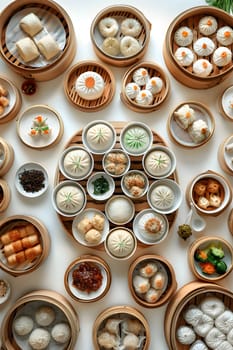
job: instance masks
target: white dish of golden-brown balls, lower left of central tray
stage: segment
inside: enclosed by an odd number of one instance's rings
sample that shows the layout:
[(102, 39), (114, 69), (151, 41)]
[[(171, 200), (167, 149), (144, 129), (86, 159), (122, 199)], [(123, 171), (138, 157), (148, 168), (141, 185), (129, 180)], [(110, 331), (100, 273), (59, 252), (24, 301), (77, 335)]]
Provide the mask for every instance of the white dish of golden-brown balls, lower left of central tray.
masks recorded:
[(103, 243), (109, 232), (109, 221), (98, 209), (87, 208), (78, 214), (72, 222), (72, 233), (75, 240), (89, 247)]

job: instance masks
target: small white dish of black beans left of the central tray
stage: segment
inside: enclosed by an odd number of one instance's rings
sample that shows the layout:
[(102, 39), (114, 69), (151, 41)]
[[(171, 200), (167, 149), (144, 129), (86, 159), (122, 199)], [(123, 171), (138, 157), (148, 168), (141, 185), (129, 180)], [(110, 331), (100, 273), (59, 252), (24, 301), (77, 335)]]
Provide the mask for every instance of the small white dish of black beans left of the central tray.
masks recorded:
[[(39, 190), (30, 190), (31, 186), (33, 186), (33, 182), (35, 179), (37, 172), (39, 176), (43, 176), (44, 180), (40, 181), (41, 188)], [(38, 173), (39, 172), (39, 173)], [(24, 185), (22, 183), (22, 177), (25, 178)], [(49, 185), (48, 173), (46, 169), (39, 163), (29, 162), (20, 166), (15, 175), (15, 187), (17, 191), (24, 197), (28, 198), (36, 198), (44, 194)]]

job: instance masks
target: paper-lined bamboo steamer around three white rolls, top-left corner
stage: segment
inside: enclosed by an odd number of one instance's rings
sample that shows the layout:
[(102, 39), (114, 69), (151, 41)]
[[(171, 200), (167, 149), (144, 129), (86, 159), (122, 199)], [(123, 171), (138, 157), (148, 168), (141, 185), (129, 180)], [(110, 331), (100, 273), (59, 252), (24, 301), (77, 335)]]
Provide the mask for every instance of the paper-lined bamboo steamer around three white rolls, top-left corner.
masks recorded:
[[(24, 62), (15, 48), (15, 41), (25, 37), (19, 28), (20, 20), (29, 13), (35, 13), (41, 20), (43, 34), (51, 34), (60, 49), (52, 59), (40, 56), (31, 62)], [(72, 62), (76, 53), (76, 40), (73, 24), (57, 3), (50, 0), (13, 1), (1, 13), (0, 54), (3, 60), (24, 78), (46, 81), (62, 74)], [(40, 33), (33, 39), (39, 39)]]

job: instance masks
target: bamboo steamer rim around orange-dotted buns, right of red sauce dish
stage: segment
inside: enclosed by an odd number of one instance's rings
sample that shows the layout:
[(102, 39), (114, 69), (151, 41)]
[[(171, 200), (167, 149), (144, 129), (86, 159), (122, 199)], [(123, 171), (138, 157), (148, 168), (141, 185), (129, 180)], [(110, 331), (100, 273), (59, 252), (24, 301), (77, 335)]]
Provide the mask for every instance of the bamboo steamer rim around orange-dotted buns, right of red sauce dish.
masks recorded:
[[(137, 265), (139, 263), (145, 262), (147, 260), (154, 260), (155, 262), (158, 261), (159, 263), (161, 263), (165, 267), (166, 272), (167, 272), (167, 276), (168, 276), (168, 286), (167, 286), (166, 290), (161, 295), (161, 297), (158, 299), (158, 301), (156, 301), (153, 304), (148, 303), (147, 301), (140, 298), (135, 293), (135, 289), (133, 287), (133, 273), (134, 273), (135, 268), (137, 267)], [(131, 291), (131, 294), (132, 294), (134, 300), (139, 305), (147, 307), (147, 308), (157, 308), (157, 307), (160, 307), (160, 306), (166, 304), (168, 302), (168, 300), (170, 299), (170, 297), (175, 293), (176, 288), (177, 288), (176, 275), (175, 275), (175, 271), (174, 271), (172, 265), (170, 264), (170, 262), (167, 259), (165, 259), (164, 257), (162, 257), (160, 255), (156, 255), (156, 254), (143, 255), (143, 256), (138, 257), (136, 260), (134, 260), (132, 262), (132, 264), (130, 265), (129, 271), (128, 271), (128, 283), (129, 283), (129, 289)]]

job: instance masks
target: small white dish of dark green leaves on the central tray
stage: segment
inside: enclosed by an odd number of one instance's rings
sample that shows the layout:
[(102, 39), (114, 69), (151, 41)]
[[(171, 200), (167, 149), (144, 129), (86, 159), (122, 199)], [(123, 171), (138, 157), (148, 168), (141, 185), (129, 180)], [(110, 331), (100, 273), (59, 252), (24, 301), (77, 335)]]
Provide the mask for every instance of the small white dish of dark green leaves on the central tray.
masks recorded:
[[(104, 189), (105, 186), (108, 187), (107, 190)], [(115, 191), (115, 181), (104, 171), (99, 171), (89, 177), (86, 187), (91, 198), (96, 201), (106, 201)]]

